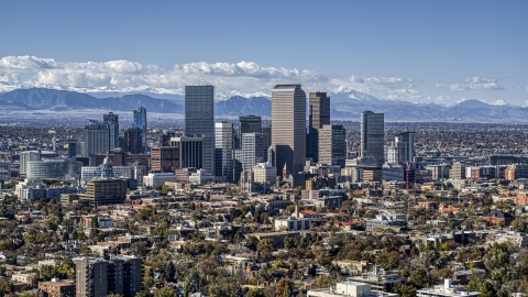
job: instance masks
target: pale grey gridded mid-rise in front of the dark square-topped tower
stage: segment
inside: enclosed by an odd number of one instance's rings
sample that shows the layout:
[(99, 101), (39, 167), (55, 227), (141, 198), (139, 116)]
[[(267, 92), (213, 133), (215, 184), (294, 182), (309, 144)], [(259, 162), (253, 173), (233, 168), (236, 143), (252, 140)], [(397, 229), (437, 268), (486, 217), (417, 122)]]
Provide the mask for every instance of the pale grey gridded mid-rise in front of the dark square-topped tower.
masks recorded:
[(267, 162), (268, 150), (267, 134), (243, 133), (242, 134), (242, 169), (251, 170), (258, 163)]

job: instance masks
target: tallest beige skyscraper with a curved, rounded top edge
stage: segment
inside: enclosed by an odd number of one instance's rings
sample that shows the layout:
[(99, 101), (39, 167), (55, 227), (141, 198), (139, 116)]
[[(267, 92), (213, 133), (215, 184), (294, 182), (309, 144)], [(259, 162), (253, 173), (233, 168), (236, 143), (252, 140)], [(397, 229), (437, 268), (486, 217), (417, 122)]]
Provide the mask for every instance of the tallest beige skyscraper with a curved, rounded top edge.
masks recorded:
[(306, 92), (300, 84), (273, 88), (272, 156), (278, 176), (286, 165), (294, 175), (294, 186), (304, 186), (304, 178), (296, 178), (306, 161)]

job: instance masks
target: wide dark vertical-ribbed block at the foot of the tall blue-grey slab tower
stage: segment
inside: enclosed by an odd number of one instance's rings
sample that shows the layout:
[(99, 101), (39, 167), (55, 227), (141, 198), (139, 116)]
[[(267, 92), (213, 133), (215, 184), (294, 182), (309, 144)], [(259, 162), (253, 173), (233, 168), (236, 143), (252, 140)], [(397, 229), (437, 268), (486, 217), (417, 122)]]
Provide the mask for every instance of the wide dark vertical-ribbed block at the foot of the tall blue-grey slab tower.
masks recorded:
[(204, 138), (172, 138), (170, 146), (179, 150), (179, 168), (204, 167)]

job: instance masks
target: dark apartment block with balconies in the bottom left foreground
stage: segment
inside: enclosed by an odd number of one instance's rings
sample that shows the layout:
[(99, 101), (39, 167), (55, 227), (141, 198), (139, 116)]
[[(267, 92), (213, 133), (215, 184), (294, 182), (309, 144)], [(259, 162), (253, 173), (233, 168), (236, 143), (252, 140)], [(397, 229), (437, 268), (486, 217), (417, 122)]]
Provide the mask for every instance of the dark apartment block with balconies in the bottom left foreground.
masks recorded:
[(109, 260), (76, 258), (76, 297), (99, 297), (110, 293), (135, 296), (141, 290), (141, 262), (139, 257), (124, 255)]

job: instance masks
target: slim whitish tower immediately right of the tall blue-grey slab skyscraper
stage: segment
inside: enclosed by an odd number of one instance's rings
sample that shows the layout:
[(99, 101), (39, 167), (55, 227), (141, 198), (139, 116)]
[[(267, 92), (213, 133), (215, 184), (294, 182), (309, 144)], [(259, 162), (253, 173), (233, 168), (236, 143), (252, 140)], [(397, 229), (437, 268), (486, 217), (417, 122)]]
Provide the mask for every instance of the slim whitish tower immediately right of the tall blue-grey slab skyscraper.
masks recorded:
[(233, 123), (215, 123), (215, 175), (229, 183), (233, 182)]

